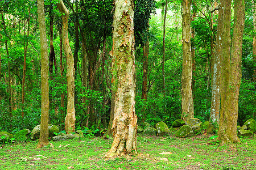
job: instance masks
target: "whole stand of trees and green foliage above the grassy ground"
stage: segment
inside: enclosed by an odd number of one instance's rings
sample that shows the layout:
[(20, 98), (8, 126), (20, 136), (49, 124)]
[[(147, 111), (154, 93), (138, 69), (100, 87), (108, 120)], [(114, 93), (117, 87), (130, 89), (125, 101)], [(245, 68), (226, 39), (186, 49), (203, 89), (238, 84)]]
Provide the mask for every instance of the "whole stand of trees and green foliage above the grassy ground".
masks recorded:
[(198, 120), (195, 135), (220, 146), (255, 135), (254, 1), (1, 0), (0, 12), (0, 135), (41, 125), (41, 148), (48, 125), (80, 130), (113, 139), (104, 158), (137, 153), (160, 122), (170, 138)]

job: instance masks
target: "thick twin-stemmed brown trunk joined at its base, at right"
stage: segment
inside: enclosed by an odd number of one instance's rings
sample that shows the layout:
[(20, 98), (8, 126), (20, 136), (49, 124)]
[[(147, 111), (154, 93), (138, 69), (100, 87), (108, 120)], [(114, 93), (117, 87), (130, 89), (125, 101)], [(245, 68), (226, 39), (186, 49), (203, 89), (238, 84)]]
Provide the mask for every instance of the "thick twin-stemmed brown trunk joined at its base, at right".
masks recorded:
[(234, 13), (234, 32), (232, 38), (232, 60), (230, 62), (230, 16), (231, 0), (224, 6), (224, 37), (222, 41), (222, 82), (221, 114), (218, 140), (220, 145), (240, 142), (237, 137), (238, 97), (241, 84), (242, 37), (245, 22), (245, 1), (236, 0)]

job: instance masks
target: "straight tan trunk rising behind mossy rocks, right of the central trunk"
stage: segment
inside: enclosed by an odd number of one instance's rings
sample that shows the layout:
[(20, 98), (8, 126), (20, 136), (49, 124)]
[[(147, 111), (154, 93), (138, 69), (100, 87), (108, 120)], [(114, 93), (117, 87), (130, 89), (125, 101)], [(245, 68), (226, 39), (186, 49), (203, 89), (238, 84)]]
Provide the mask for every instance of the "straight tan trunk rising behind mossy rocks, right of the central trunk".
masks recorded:
[(183, 41), (183, 67), (181, 78), (181, 118), (189, 120), (194, 117), (194, 104), (192, 95), (192, 57), (191, 57), (191, 0), (182, 2), (182, 41)]

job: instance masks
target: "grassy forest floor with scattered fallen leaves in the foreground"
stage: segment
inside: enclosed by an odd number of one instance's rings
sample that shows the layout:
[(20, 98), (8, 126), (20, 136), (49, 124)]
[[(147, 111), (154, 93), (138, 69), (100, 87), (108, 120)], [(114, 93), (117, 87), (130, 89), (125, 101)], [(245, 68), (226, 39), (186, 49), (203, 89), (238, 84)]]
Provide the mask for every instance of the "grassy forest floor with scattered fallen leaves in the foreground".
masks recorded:
[[(104, 159), (112, 140), (98, 137), (0, 145), (0, 169), (256, 169), (256, 137), (234, 147), (222, 146), (210, 135), (191, 138), (138, 135), (138, 155)], [(218, 151), (216, 149), (218, 148)]]

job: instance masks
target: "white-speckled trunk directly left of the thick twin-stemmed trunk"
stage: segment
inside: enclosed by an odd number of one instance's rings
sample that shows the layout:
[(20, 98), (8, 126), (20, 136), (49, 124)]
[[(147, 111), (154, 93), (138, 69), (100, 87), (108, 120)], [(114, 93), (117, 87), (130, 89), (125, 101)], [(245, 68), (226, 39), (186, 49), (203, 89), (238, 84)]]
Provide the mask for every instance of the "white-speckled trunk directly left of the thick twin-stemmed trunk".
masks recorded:
[[(220, 1), (218, 10), (218, 25), (216, 35), (216, 47), (213, 58), (212, 73), (212, 102), (210, 106), (210, 124), (218, 126), (220, 122), (220, 82), (221, 82), (221, 58), (222, 58), (222, 32), (223, 32), (223, 10), (224, 0)], [(217, 128), (217, 127), (216, 127)], [(212, 133), (209, 131), (209, 133)]]

